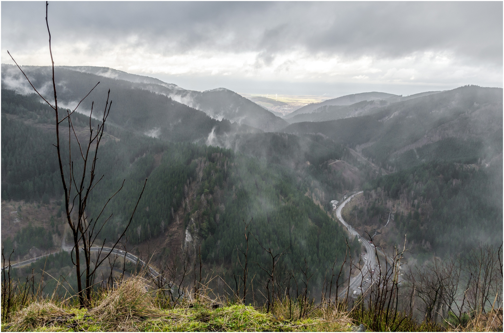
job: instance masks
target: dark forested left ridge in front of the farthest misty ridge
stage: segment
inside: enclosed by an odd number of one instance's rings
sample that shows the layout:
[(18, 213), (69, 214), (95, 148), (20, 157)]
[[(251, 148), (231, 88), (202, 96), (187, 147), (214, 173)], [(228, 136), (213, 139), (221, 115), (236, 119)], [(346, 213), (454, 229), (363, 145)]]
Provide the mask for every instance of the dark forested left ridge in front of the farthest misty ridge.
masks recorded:
[[(20, 77), (21, 73), (17, 68), (2, 66), (3, 87), (15, 88), (18, 92), (30, 92), (26, 79)], [(27, 66), (25, 70), (33, 85), (50, 100), (49, 68)], [(81, 103), (79, 110), (89, 114), (94, 101), (93, 115), (101, 116), (107, 99), (107, 89), (110, 88), (112, 108), (109, 121), (152, 137), (171, 141), (206, 140), (214, 127), (217, 133), (229, 132), (233, 128), (228, 120), (213, 119), (205, 112), (174, 101), (170, 97), (141, 89), (145, 84), (63, 68), (56, 68), (55, 76), (59, 106), (73, 109), (86, 92), (100, 81), (100, 85)]]

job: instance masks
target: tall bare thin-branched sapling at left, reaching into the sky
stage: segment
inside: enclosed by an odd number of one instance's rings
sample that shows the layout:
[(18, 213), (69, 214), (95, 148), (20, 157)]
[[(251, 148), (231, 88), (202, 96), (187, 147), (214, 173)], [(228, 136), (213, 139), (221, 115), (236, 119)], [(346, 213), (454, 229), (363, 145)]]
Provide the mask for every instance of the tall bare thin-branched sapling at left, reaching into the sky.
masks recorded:
[[(76, 108), (73, 111), (66, 110), (66, 115), (61, 114), (62, 112), (65, 112), (65, 110), (60, 110), (58, 108), (58, 103), (57, 103), (57, 93), (56, 93), (56, 80), (54, 76), (54, 59), (52, 56), (52, 49), (51, 49), (51, 32), (49, 30), (49, 22), (48, 22), (48, 2), (45, 4), (45, 22), (47, 26), (47, 33), (49, 35), (49, 53), (51, 56), (51, 66), (52, 66), (52, 88), (53, 88), (53, 93), (54, 93), (54, 105), (51, 104), (49, 101), (47, 101), (46, 98), (44, 98), (38, 91), (37, 89), (33, 86), (33, 84), (30, 82), (26, 74), (23, 72), (21, 67), (18, 65), (16, 60), (14, 60), (14, 57), (12, 57), (11, 53), (8, 51), (9, 55), (13, 59), (13, 61), (16, 63), (18, 66), (19, 70), (23, 73), (25, 78), (28, 80), (28, 83), (30, 83), (31, 87), (33, 90), (54, 110), (55, 114), (55, 125), (56, 125), (56, 152), (57, 152), (57, 157), (58, 157), (58, 164), (59, 164), (59, 171), (61, 175), (61, 184), (63, 186), (64, 192), (65, 192), (65, 214), (67, 217), (67, 222), (70, 226), (70, 229), (72, 230), (73, 237), (74, 237), (74, 249), (75, 250), (75, 261), (74, 258), (72, 257), (73, 263), (75, 265), (76, 269), (76, 276), (77, 276), (77, 290), (78, 290), (78, 298), (79, 298), (79, 303), (80, 306), (87, 306), (90, 304), (91, 301), (91, 289), (92, 289), (92, 281), (95, 275), (95, 272), (97, 268), (100, 266), (100, 264), (112, 253), (112, 250), (115, 248), (117, 243), (120, 241), (120, 239), (124, 236), (126, 231), (128, 230), (128, 227), (131, 224), (131, 221), (133, 219), (133, 215), (135, 214), (135, 211), (138, 207), (138, 203), (140, 202), (140, 198), (142, 197), (142, 193), (144, 192), (145, 189), (145, 184), (147, 183), (147, 179), (145, 180), (144, 187), (142, 189), (142, 192), (139, 195), (137, 205), (135, 206), (135, 209), (133, 210), (133, 213), (131, 215), (130, 221), (128, 222), (127, 226), (125, 226), (122, 234), (118, 237), (117, 241), (112, 245), (110, 250), (105, 251), (105, 255), (101, 257), (102, 251), (104, 249), (105, 245), (105, 240), (103, 240), (101, 247), (98, 249), (98, 255), (94, 261), (92, 262), (92, 257), (91, 257), (91, 249), (94, 247), (94, 243), (100, 234), (101, 230), (103, 229), (103, 226), (107, 223), (107, 221), (112, 217), (110, 215), (107, 219), (105, 219), (103, 222), (98, 223), (98, 220), (100, 219), (103, 211), (105, 210), (105, 207), (107, 204), (110, 202), (110, 200), (122, 189), (121, 187), (114, 193), (112, 194), (107, 202), (104, 204), (103, 209), (101, 212), (98, 214), (96, 219), (91, 219), (90, 221), (87, 221), (87, 216), (86, 216), (86, 207), (89, 199), (89, 194), (91, 191), (94, 189), (96, 184), (103, 178), (103, 175), (101, 176), (100, 179), (96, 179), (96, 163), (98, 160), (98, 148), (100, 146), (101, 140), (103, 138), (103, 131), (105, 128), (105, 122), (107, 120), (107, 117), (110, 112), (110, 107), (112, 106), (112, 102), (109, 102), (110, 98), (110, 90), (108, 91), (107, 94), (107, 101), (105, 103), (105, 108), (103, 111), (103, 115), (101, 116), (101, 121), (98, 122), (97, 128), (93, 129), (93, 126), (91, 124), (91, 116), (93, 114), (93, 108), (94, 108), (94, 102), (92, 103), (91, 106), (91, 114), (89, 116), (89, 140), (86, 143), (81, 143), (79, 141), (79, 138), (77, 137), (74, 124), (72, 122), (72, 114), (77, 110), (79, 105), (82, 103), (82, 101), (89, 96), (89, 94), (98, 86), (99, 82), (89, 91), (89, 93), (84, 96), (82, 100), (78, 103)], [(68, 160), (68, 173), (65, 175), (65, 170), (63, 167), (63, 161), (61, 157), (61, 141), (60, 141), (60, 124), (63, 121), (68, 122), (68, 130), (69, 130), (69, 146), (68, 146), (68, 154), (69, 154), (69, 160)], [(73, 136), (72, 136), (73, 134)], [(77, 155), (80, 155), (80, 158), (78, 157), (77, 159), (74, 159), (72, 157), (72, 140), (75, 137), (75, 140), (77, 142), (77, 145), (79, 147), (79, 151), (77, 152)], [(74, 167), (74, 163), (76, 166)], [(77, 164), (80, 163), (80, 166), (82, 167), (82, 174), (77, 171)], [(68, 177), (68, 178), (67, 178)], [(124, 184), (124, 181), (122, 182)], [(73, 196), (73, 197), (72, 197)], [(73, 217), (75, 212), (74, 209), (77, 209), (77, 218)], [(82, 248), (83, 253), (84, 253), (84, 258), (85, 258), (85, 271), (81, 273), (81, 258), (80, 258), (80, 249)], [(82, 286), (82, 281), (81, 278), (85, 274), (85, 287), (83, 288)]]

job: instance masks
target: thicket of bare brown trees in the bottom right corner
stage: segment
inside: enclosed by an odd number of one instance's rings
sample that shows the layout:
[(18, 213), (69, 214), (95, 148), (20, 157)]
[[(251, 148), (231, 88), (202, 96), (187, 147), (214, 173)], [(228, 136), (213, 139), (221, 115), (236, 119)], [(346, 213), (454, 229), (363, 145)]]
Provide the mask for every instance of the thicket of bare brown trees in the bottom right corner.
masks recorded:
[[(501, 245), (502, 246), (502, 245)], [(467, 257), (433, 257), (424, 265), (405, 272), (409, 288), (409, 310), (416, 308), (424, 318), (441, 319), (454, 329), (502, 304), (502, 247), (479, 245)]]

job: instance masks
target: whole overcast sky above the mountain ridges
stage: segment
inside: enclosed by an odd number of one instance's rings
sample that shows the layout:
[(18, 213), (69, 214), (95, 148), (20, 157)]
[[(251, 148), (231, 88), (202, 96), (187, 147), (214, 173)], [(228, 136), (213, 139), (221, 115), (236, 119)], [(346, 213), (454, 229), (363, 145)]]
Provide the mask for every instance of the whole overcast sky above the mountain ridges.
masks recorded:
[[(502, 2), (53, 2), (56, 65), (186, 89), (341, 96), (502, 87)], [(2, 2), (2, 62), (49, 65), (45, 3)]]

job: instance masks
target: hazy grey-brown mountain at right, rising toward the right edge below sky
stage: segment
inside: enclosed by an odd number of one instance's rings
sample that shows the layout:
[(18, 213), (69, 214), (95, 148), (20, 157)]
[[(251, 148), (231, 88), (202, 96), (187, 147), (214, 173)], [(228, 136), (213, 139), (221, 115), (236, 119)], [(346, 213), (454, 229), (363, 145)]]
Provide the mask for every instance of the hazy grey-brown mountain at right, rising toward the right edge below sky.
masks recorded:
[[(365, 156), (383, 165), (398, 167), (435, 159), (489, 160), (502, 153), (501, 88), (465, 86), (376, 111), (340, 120), (294, 123), (284, 131), (320, 132), (362, 149)], [(418, 155), (420, 148), (423, 155)]]

